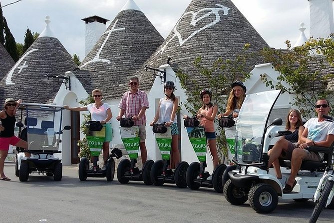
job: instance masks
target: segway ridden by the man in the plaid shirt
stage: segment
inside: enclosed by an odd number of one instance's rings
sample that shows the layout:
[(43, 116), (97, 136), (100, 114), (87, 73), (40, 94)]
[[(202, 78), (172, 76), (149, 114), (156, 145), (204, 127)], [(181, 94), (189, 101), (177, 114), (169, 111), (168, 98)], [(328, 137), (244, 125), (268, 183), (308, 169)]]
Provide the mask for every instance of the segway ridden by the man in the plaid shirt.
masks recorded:
[(117, 167), (117, 178), (120, 183), (128, 183), (132, 181), (144, 181), (146, 185), (152, 185), (150, 171), (154, 163), (149, 159), (143, 163), (143, 168), (140, 170), (137, 166), (138, 148), (139, 148), (139, 126), (133, 126), (134, 121), (131, 118), (121, 119), (119, 127), (121, 138), (124, 147), (130, 159), (122, 159)]

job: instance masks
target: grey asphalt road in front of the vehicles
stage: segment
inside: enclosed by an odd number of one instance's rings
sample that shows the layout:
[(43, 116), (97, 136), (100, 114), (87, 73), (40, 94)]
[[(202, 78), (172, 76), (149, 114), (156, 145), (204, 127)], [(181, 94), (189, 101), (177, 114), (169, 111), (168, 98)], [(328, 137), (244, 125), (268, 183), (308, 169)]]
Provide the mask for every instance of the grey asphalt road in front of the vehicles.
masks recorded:
[[(210, 188), (120, 184), (116, 176), (80, 181), (76, 166), (63, 167), (61, 181), (31, 174), (20, 182), (14, 164), (4, 170), (11, 180), (0, 180), (0, 222), (308, 222), (314, 208), (310, 200), (280, 200), (274, 212), (259, 214)], [(318, 222), (334, 222), (334, 210), (325, 209)]]

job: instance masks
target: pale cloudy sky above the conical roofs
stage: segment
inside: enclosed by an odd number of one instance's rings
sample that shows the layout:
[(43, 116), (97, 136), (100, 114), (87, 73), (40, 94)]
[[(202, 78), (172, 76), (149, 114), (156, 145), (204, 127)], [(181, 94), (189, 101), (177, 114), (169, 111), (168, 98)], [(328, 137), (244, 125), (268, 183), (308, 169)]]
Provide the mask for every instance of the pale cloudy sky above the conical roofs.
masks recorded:
[[(0, 0), (5, 5), (16, 0)], [(24, 42), (28, 27), (41, 33), (45, 16), (55, 36), (80, 60), (85, 53), (85, 22), (81, 18), (98, 15), (112, 21), (127, 0), (21, 0), (2, 8), (16, 42)], [(191, 0), (134, 0), (160, 34), (166, 38)], [(297, 41), (300, 23), (310, 32), (308, 0), (232, 0), (265, 41), (275, 48), (286, 48), (285, 40)], [(109, 21), (109, 23), (110, 23)], [(107, 25), (109, 25), (107, 23)]]

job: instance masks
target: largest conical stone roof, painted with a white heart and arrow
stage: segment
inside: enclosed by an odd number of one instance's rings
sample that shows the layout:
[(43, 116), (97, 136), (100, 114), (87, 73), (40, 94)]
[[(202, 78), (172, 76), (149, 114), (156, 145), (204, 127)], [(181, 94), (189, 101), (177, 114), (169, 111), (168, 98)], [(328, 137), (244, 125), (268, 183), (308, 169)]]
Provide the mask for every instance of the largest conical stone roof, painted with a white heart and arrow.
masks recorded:
[[(204, 77), (194, 67), (195, 59), (201, 56), (202, 64), (211, 67), (218, 57), (235, 59), (245, 43), (250, 43), (249, 51), (268, 46), (231, 0), (192, 0), (146, 63), (157, 68), (170, 56), (175, 71), (182, 69), (205, 87)], [(248, 60), (246, 70), (251, 71), (258, 62), (257, 58)], [(151, 76), (145, 80), (153, 82)]]

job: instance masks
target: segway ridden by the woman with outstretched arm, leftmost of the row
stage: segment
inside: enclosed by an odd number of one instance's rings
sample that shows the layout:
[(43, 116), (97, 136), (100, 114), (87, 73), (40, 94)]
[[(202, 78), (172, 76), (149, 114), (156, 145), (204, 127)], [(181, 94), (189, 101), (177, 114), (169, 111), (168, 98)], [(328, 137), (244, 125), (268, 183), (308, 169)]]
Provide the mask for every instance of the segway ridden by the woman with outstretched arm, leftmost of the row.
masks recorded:
[(90, 155), (96, 158), (93, 161), (93, 166), (89, 167), (89, 159), (82, 157), (79, 164), (79, 179), (84, 181), (87, 177), (106, 177), (107, 181), (112, 181), (115, 175), (115, 161), (113, 157), (117, 159), (122, 156), (122, 151), (118, 148), (114, 148), (108, 155), (105, 162), (105, 169), (101, 169), (98, 164), (98, 156), (101, 153), (102, 145), (105, 139), (105, 126), (100, 121), (88, 121), (86, 122), (88, 132), (86, 135)]

